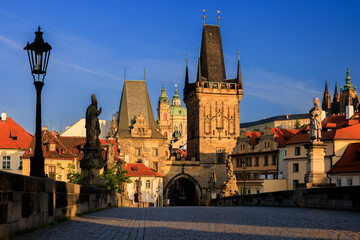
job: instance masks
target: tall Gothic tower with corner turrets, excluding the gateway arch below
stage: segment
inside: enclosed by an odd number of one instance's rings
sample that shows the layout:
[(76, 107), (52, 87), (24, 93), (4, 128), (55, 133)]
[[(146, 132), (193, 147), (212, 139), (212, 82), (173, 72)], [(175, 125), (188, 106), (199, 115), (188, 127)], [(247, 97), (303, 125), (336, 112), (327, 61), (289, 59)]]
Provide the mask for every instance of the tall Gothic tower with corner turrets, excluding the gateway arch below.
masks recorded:
[(237, 77), (226, 79), (220, 27), (204, 24), (195, 83), (189, 83), (187, 68), (184, 102), (188, 110), (188, 158), (204, 165), (224, 163), (240, 136), (240, 58)]

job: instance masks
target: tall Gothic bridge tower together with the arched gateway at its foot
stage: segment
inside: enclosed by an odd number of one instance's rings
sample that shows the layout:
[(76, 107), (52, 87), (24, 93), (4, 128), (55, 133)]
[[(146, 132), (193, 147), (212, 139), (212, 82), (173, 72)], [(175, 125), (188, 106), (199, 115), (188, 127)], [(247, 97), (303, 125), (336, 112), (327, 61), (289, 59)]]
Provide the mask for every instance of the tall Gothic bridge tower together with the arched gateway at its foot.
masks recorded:
[(164, 198), (170, 205), (203, 205), (220, 193), (227, 181), (228, 154), (240, 136), (242, 96), (240, 60), (237, 77), (226, 79), (220, 27), (204, 24), (196, 82), (189, 81), (188, 65), (185, 72), (187, 157), (171, 159), (164, 178)]

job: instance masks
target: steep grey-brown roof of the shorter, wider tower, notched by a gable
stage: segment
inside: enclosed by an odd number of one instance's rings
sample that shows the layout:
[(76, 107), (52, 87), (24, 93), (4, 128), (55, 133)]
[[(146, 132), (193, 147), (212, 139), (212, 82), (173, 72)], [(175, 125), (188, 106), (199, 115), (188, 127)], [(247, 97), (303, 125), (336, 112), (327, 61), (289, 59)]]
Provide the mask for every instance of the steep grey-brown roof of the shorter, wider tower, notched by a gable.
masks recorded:
[(165, 139), (157, 130), (145, 81), (125, 80), (119, 107), (118, 138), (131, 138), (135, 118), (142, 114), (151, 129), (151, 138)]

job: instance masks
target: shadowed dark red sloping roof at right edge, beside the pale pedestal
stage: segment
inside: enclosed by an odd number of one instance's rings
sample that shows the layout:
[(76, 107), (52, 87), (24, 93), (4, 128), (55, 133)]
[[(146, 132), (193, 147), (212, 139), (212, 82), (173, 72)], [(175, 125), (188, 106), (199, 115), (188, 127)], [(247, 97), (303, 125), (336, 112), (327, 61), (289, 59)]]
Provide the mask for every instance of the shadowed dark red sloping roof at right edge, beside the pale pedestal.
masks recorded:
[(328, 171), (328, 173), (355, 172), (360, 172), (360, 143), (350, 143), (340, 160)]

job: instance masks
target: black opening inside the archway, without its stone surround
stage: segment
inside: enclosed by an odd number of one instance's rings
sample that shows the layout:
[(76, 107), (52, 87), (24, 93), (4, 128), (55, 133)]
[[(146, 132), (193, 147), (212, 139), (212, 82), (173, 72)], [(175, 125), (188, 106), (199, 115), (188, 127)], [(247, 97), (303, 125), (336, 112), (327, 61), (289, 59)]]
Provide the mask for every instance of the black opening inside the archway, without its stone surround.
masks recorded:
[(169, 189), (168, 199), (170, 206), (197, 206), (195, 185), (182, 177), (177, 179)]

